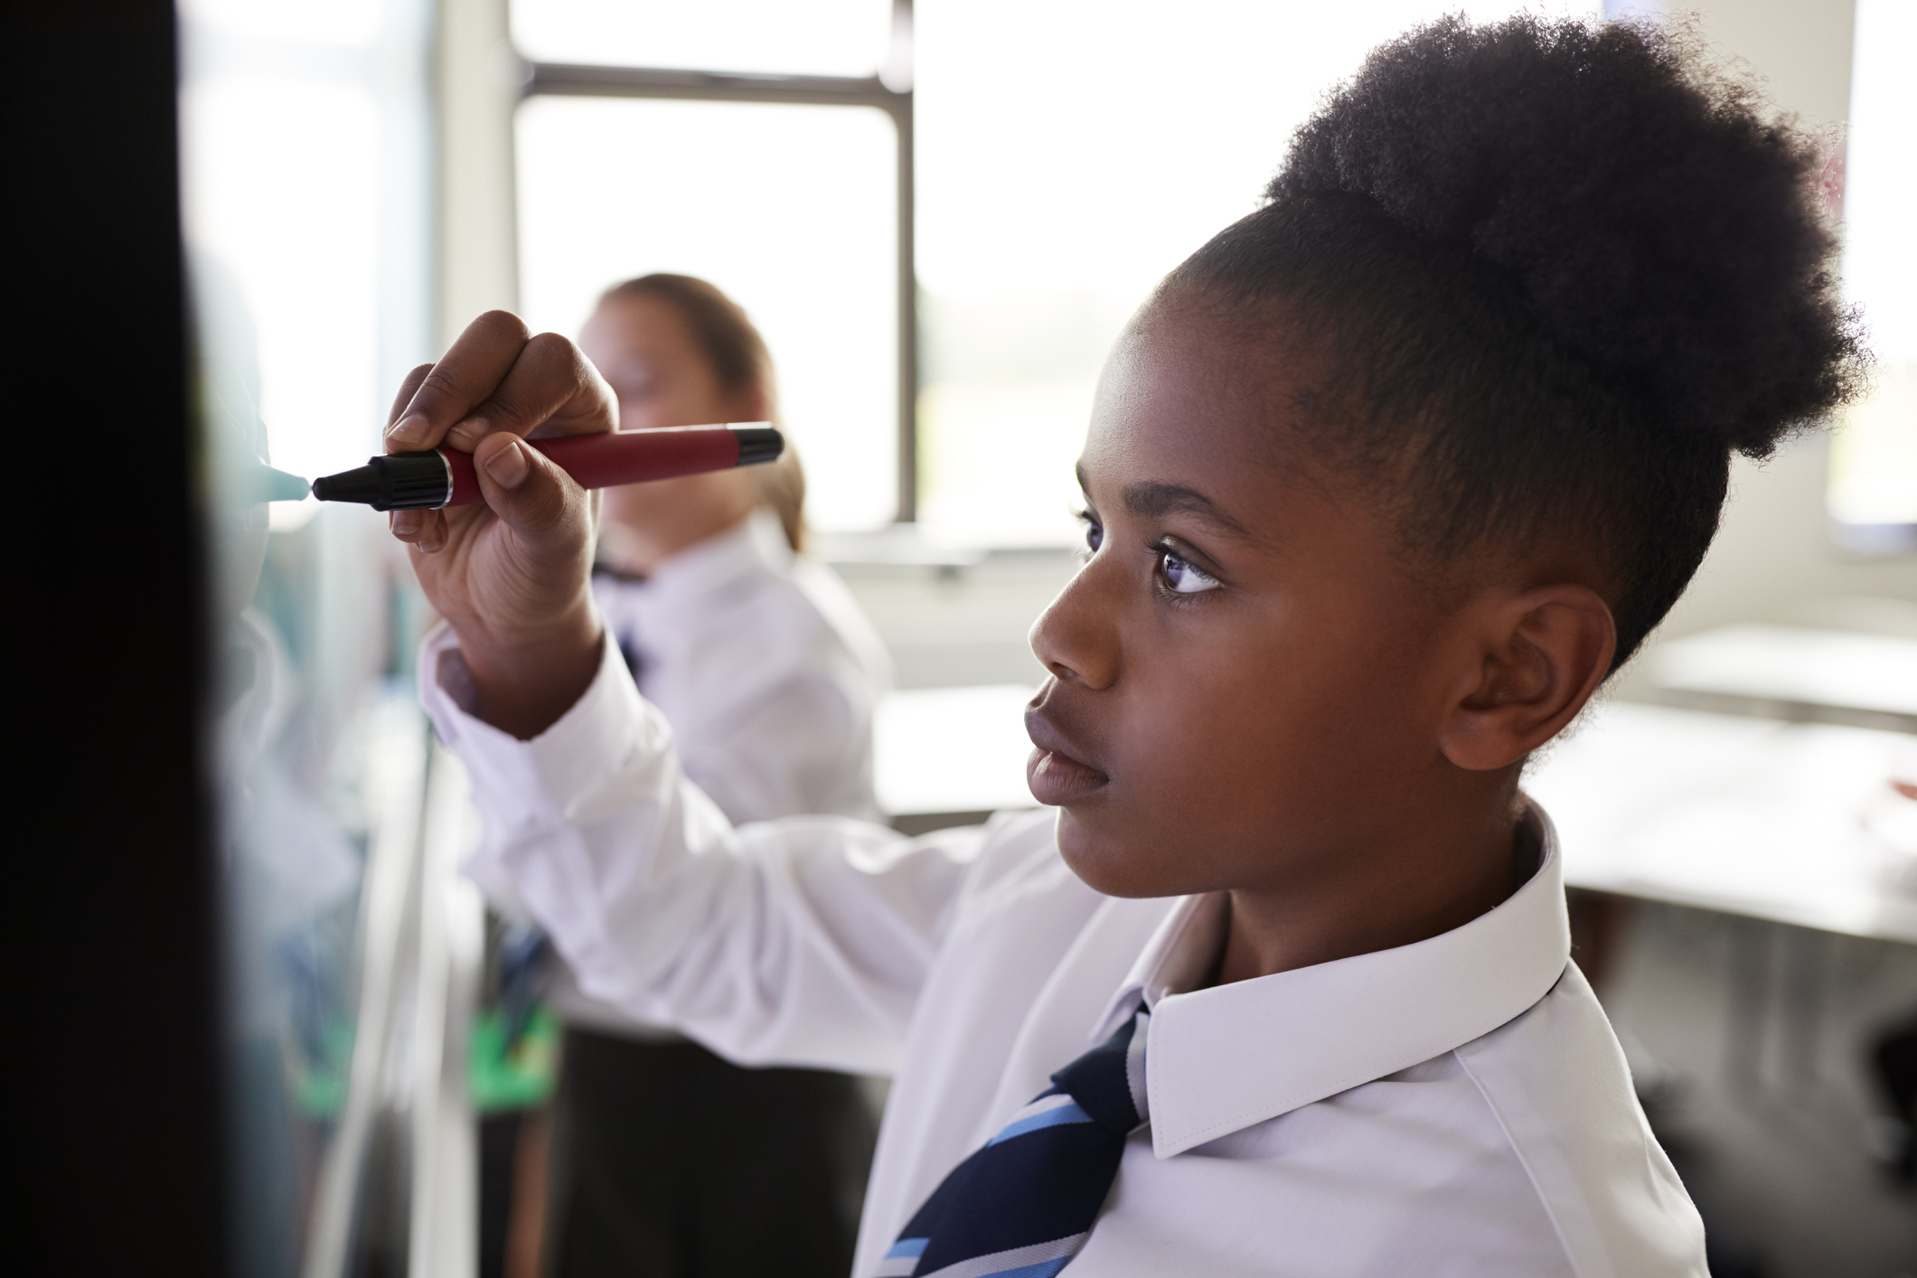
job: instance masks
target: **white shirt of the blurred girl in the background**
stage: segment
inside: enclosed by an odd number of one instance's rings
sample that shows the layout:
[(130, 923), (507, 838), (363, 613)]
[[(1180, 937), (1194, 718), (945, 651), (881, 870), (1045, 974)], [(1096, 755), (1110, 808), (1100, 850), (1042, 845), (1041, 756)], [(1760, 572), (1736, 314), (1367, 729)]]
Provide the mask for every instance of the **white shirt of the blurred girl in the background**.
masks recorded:
[[(773, 512), (755, 510), (644, 581), (594, 577), (592, 598), (638, 667), (640, 696), (671, 724), (686, 776), (727, 818), (878, 818), (872, 705), (891, 682), (889, 657), (845, 584), (792, 554)], [(590, 998), (564, 966), (546, 998), (569, 1025), (677, 1037)]]

